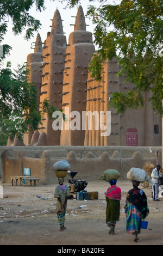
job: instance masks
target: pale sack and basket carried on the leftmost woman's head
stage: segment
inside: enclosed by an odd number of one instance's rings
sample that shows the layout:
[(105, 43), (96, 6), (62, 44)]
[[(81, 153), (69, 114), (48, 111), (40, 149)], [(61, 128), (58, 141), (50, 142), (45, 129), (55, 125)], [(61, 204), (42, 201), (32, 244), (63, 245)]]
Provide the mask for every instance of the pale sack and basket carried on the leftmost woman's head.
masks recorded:
[(61, 160), (53, 164), (52, 169), (55, 170), (55, 175), (58, 178), (64, 178), (67, 175), (67, 171), (71, 166), (66, 160)]

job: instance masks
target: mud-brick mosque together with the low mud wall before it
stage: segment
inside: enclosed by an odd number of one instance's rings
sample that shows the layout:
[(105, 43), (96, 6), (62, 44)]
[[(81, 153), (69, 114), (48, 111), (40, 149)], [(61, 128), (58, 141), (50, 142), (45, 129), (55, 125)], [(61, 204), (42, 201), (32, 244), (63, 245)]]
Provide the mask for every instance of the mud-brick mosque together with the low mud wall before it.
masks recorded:
[[(24, 176), (24, 168), (30, 168), (31, 176), (39, 178), (40, 184), (54, 184), (58, 180), (52, 166), (62, 159), (78, 172), (78, 178), (89, 181), (98, 180), (106, 169), (114, 168), (121, 173), (121, 179), (126, 179), (131, 167), (142, 168), (149, 161), (154, 166), (161, 163), (161, 117), (152, 111), (150, 92), (144, 95), (141, 109), (118, 114), (109, 108), (113, 92), (134, 89), (134, 84), (125, 82), (125, 76), (117, 76), (117, 59), (103, 65), (101, 82), (92, 79), (87, 67), (94, 52), (92, 33), (86, 31), (81, 6), (68, 43), (58, 9), (46, 40), (42, 42), (37, 34), (34, 52), (27, 56), (29, 82), (37, 87), (37, 110), (48, 99), (59, 113), (62, 109), (68, 116), (68, 125), (73, 122), (75, 129), (67, 129), (67, 119), (62, 123), (66, 129), (54, 129), (57, 118), (44, 114), (42, 125), (37, 131), (24, 134), (23, 142), (17, 137), (8, 140), (7, 146), (0, 146), (2, 183), (11, 182), (11, 176)], [(88, 112), (92, 113), (92, 129), (87, 115), (82, 129), (83, 113)], [(74, 117), (77, 113), (81, 120)], [(100, 123), (96, 118), (100, 119), (101, 113)], [(111, 127), (109, 135), (102, 136), (107, 126)]]

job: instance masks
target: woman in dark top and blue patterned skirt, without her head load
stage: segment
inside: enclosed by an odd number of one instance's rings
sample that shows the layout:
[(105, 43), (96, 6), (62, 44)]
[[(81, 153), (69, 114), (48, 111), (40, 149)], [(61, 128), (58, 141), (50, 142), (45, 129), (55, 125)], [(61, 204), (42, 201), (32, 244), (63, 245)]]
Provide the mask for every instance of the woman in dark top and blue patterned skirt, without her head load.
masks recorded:
[(134, 234), (134, 241), (137, 242), (137, 234), (140, 233), (141, 220), (145, 219), (149, 214), (147, 205), (147, 197), (145, 192), (138, 188), (140, 182), (132, 180), (133, 189), (129, 190), (124, 206), (127, 217), (127, 232)]

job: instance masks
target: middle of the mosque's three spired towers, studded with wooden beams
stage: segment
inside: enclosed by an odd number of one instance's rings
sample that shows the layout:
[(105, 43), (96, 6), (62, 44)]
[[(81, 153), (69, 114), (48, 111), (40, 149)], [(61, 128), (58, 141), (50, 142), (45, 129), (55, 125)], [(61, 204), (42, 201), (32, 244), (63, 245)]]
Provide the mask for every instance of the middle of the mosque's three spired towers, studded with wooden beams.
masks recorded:
[[(57, 110), (61, 109), (66, 48), (66, 36), (57, 9), (54, 13), (51, 33), (47, 33), (47, 39), (43, 45), (40, 108), (43, 100), (47, 99), (51, 106), (55, 106)], [(54, 131), (52, 123), (53, 120), (44, 114), (39, 132), (46, 133), (47, 145), (60, 145), (60, 130)]]

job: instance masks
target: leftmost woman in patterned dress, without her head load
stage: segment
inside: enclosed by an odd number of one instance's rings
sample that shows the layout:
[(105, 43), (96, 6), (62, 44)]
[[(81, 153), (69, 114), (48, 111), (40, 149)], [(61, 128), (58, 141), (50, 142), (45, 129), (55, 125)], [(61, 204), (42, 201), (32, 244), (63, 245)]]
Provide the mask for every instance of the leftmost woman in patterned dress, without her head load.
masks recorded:
[(65, 214), (67, 207), (67, 199), (70, 196), (68, 186), (64, 185), (64, 178), (58, 178), (59, 185), (55, 188), (54, 197), (57, 198), (56, 211), (58, 216), (58, 222), (60, 225), (60, 231), (63, 231), (65, 227)]

